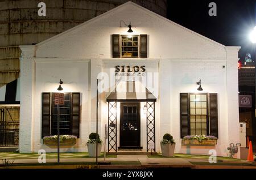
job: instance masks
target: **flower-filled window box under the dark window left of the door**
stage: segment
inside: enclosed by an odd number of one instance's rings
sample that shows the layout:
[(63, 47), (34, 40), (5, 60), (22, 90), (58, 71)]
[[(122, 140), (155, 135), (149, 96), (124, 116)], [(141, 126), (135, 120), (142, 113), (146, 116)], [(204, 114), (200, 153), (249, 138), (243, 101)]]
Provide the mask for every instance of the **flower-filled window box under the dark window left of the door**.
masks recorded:
[[(57, 146), (58, 139), (57, 135), (54, 136), (45, 136), (43, 138), (44, 144), (48, 146)], [(72, 135), (60, 135), (60, 145), (62, 146), (73, 146), (76, 144), (76, 136)]]

